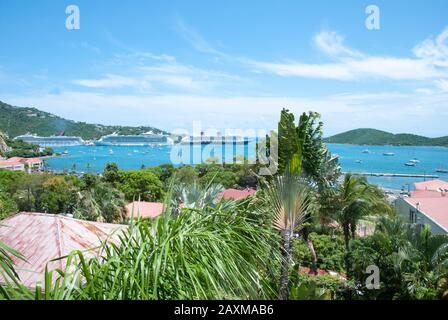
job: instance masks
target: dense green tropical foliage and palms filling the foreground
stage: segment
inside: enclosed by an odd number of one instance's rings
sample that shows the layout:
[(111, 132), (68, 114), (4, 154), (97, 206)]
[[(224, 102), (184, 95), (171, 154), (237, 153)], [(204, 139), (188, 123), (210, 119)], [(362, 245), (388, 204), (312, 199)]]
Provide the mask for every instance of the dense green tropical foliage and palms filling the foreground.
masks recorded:
[[(18, 210), (123, 222), (125, 200), (165, 205), (156, 219), (130, 221), (98, 256), (63, 258), (67, 268), (46, 272), (45, 291), (20, 285), (5, 252), (15, 254), (0, 244), (0, 272), (12, 281), (0, 298), (448, 298), (448, 236), (395, 218), (364, 177), (338, 179), (318, 114), (304, 113), (296, 124), (283, 110), (278, 137), (273, 177), (256, 176), (257, 167), (244, 163), (134, 171), (108, 164), (103, 175), (81, 178), (0, 170), (0, 212), (3, 199), (14, 199)], [(257, 186), (255, 196), (219, 197), (224, 187), (247, 186)], [(360, 237), (366, 221), (374, 232)], [(367, 287), (370, 266), (380, 270), (379, 288)]]

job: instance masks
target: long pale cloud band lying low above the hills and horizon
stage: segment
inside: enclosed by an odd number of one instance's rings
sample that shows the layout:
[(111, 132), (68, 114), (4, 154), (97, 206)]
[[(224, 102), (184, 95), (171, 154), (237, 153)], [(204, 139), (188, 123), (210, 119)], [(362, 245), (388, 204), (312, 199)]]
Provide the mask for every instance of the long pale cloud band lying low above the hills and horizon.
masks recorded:
[[(282, 107), (299, 115), (323, 115), (325, 134), (359, 127), (394, 133), (446, 135), (447, 94), (400, 92), (339, 94), (316, 99), (281, 96), (120, 95), (61, 92), (6, 97), (21, 106), (37, 106), (77, 121), (152, 125), (166, 130), (191, 129), (194, 121), (207, 128), (274, 129)], [(163, 112), (161, 112), (163, 110)], [(350, 119), (350, 121), (347, 121)]]

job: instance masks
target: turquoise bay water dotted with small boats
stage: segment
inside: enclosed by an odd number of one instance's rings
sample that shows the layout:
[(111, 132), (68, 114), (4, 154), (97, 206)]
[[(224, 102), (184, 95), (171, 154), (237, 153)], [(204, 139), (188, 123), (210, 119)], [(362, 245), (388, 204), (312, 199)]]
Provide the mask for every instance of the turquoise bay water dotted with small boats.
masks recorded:
[[(435, 174), (448, 180), (448, 174), (436, 173), (437, 168), (448, 169), (448, 148), (443, 147), (397, 147), (397, 146), (354, 146), (329, 144), (329, 149), (340, 156), (343, 171), (346, 172), (377, 172), (377, 173), (415, 173)], [(363, 153), (363, 150), (370, 153)], [(78, 172), (102, 172), (108, 162), (115, 162), (121, 169), (140, 169), (157, 166), (164, 163), (180, 165), (182, 163), (198, 164), (210, 157), (225, 159), (231, 163), (234, 157), (242, 156), (255, 159), (255, 142), (249, 145), (219, 147), (182, 146), (163, 147), (103, 147), (79, 146), (55, 148), (56, 152), (68, 151), (62, 157), (47, 160), (50, 169), (63, 172), (75, 170)], [(395, 156), (386, 157), (383, 153), (393, 152)], [(404, 163), (418, 159), (415, 167), (407, 167)], [(357, 161), (361, 161), (358, 163)], [(392, 189), (412, 189), (414, 182), (423, 181), (419, 178), (398, 177), (368, 177), (369, 181)]]

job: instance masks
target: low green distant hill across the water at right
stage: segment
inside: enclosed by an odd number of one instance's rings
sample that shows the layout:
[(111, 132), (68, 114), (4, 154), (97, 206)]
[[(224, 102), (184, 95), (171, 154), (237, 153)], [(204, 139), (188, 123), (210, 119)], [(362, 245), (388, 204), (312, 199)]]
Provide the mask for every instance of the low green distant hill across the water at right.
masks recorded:
[(325, 139), (328, 143), (357, 145), (397, 145), (397, 146), (444, 146), (448, 147), (448, 136), (428, 138), (415, 134), (393, 134), (376, 129), (355, 129)]

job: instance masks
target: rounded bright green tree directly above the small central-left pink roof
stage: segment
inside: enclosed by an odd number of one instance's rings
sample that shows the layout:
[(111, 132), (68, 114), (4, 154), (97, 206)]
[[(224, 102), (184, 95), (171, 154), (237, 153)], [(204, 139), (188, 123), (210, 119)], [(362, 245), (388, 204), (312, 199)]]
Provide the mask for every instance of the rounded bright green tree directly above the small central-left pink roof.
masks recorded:
[(164, 196), (162, 182), (150, 170), (120, 171), (119, 190), (126, 200), (159, 201)]

